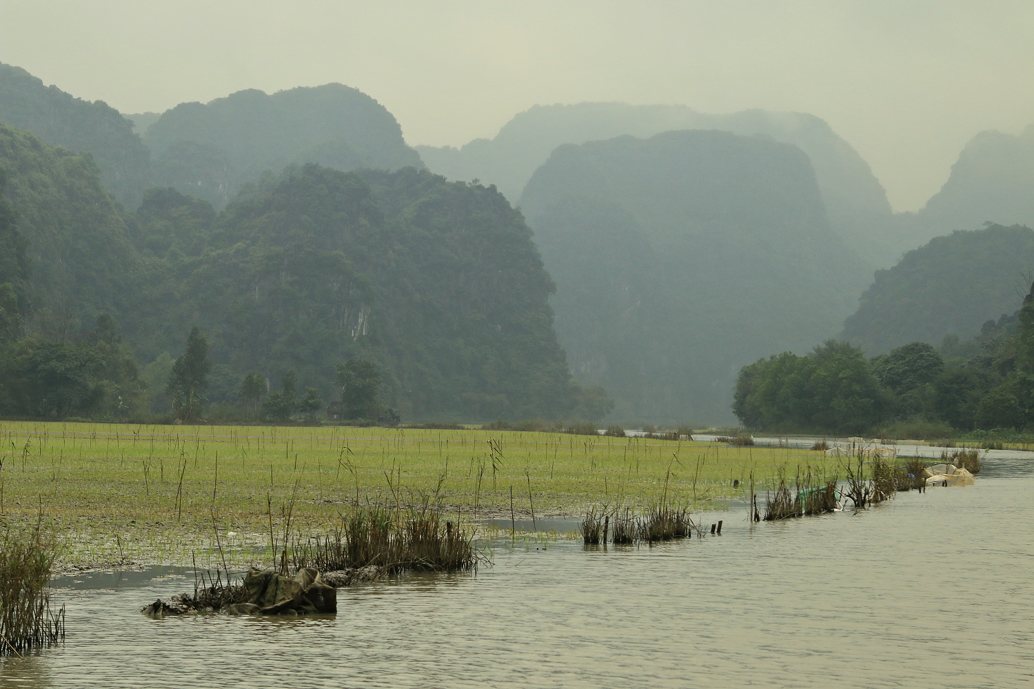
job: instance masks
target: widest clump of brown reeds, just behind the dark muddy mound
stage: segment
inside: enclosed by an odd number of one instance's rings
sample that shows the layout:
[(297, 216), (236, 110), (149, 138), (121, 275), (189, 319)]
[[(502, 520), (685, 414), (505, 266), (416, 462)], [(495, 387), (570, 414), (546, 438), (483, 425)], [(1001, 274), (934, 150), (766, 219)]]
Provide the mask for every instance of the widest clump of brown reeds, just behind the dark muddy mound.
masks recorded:
[(473, 569), (480, 560), (473, 535), (447, 521), (440, 507), (427, 504), (407, 511), (357, 507), (331, 533), (296, 541), (292, 549), (296, 568), (320, 571), (369, 566), (389, 572), (455, 571)]

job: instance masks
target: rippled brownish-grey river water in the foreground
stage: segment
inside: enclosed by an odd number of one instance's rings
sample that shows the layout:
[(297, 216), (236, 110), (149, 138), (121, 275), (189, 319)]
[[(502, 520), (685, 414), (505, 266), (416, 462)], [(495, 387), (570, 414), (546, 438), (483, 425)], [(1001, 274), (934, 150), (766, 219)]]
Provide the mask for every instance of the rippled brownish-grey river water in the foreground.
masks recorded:
[(323, 619), (149, 620), (190, 576), (59, 580), (67, 641), (0, 661), (0, 686), (1031, 687), (1032, 466), (857, 514), (716, 513), (722, 536), (653, 547), (507, 540)]

